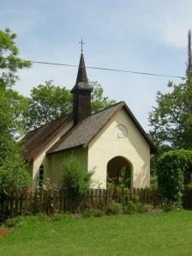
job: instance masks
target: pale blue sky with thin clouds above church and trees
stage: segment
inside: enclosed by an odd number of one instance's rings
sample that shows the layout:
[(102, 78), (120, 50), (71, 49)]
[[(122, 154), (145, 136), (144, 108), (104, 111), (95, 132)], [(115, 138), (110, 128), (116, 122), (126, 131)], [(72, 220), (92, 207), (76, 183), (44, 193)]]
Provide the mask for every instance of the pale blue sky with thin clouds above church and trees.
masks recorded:
[[(191, 0), (0, 0), (0, 6), (0, 29), (10, 27), (18, 34), (21, 58), (78, 64), (82, 36), (87, 66), (184, 76)], [(29, 95), (33, 86), (46, 80), (72, 88), (76, 72), (33, 64), (19, 73), (15, 89)], [(156, 92), (167, 91), (168, 78), (102, 70), (87, 70), (87, 76), (101, 83), (111, 99), (126, 101), (149, 130), (148, 113)]]

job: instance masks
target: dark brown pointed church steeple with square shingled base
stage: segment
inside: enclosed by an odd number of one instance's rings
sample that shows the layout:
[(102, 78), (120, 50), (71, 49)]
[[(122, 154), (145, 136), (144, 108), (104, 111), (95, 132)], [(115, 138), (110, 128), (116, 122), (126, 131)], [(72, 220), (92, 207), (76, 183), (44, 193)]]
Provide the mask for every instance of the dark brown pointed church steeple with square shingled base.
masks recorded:
[(83, 119), (86, 119), (91, 113), (91, 91), (92, 87), (88, 84), (87, 72), (83, 53), (81, 52), (80, 64), (76, 77), (74, 88), (71, 93), (74, 94), (73, 113), (74, 124), (77, 125)]

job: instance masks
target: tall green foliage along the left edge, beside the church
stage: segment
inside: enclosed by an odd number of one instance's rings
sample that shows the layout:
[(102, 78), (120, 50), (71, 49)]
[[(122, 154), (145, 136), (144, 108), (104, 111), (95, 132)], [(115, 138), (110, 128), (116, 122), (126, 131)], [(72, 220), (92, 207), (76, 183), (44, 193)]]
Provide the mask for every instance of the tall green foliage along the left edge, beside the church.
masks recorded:
[(21, 113), (27, 101), (12, 89), (18, 80), (16, 72), (30, 66), (19, 58), (16, 34), (0, 30), (0, 190), (27, 186), (29, 174), (15, 135), (22, 130)]

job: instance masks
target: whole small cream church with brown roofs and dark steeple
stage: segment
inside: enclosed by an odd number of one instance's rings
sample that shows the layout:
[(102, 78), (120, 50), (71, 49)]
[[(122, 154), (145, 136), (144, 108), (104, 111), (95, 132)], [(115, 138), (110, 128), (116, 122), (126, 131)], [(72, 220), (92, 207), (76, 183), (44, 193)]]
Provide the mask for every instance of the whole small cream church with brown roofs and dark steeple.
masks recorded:
[(125, 102), (92, 113), (91, 93), (83, 53), (73, 94), (73, 113), (29, 131), (24, 157), (33, 184), (49, 178), (62, 183), (63, 163), (73, 152), (88, 170), (93, 187), (105, 188), (122, 168), (129, 168), (131, 187), (150, 186), (150, 155), (155, 147)]

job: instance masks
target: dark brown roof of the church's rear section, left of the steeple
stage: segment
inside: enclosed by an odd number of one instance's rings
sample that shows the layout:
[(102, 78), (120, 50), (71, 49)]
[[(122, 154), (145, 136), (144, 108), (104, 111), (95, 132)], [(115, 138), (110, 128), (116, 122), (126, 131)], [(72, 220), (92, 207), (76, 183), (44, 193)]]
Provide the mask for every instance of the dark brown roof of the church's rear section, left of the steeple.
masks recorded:
[(53, 120), (47, 125), (43, 125), (33, 131), (29, 131), (21, 141), (25, 149), (23, 154), (25, 160), (30, 162), (33, 157), (37, 155), (55, 135), (57, 135), (57, 132), (63, 129), (63, 126), (66, 125), (70, 119), (72, 119), (72, 115), (68, 114), (59, 119)]

